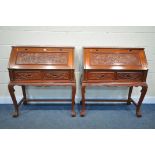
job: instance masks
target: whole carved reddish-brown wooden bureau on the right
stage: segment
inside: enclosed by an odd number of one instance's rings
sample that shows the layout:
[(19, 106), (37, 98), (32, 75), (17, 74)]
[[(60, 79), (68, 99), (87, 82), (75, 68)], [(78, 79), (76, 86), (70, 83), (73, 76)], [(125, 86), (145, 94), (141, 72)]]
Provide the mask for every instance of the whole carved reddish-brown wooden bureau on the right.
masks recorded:
[[(85, 89), (87, 86), (127, 86), (127, 100), (91, 100), (127, 102), (136, 106), (136, 115), (141, 117), (140, 107), (147, 92), (147, 60), (143, 48), (84, 48), (84, 76), (82, 79), (82, 109), (85, 115)], [(133, 87), (141, 86), (138, 103), (132, 98)]]

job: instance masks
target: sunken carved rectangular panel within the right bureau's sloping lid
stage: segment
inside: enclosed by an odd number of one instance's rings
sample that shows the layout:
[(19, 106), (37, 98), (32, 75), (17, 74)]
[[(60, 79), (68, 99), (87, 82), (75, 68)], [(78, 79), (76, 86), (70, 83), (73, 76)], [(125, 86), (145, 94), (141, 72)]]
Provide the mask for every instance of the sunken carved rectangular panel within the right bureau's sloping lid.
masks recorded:
[(139, 56), (130, 53), (91, 52), (90, 65), (141, 65)]

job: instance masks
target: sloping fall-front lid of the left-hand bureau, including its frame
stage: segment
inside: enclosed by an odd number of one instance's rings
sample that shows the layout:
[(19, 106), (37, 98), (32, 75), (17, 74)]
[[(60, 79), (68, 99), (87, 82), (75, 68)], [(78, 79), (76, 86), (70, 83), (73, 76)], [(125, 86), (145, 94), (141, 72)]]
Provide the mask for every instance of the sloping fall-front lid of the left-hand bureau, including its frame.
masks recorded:
[(74, 69), (73, 47), (12, 47), (9, 69)]

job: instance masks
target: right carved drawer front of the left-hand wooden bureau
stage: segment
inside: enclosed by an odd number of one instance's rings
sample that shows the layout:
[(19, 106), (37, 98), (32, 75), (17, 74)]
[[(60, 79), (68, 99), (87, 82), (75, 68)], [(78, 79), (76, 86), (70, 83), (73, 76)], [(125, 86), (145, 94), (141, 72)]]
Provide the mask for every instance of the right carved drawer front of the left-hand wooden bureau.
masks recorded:
[(44, 80), (71, 80), (71, 71), (45, 71)]

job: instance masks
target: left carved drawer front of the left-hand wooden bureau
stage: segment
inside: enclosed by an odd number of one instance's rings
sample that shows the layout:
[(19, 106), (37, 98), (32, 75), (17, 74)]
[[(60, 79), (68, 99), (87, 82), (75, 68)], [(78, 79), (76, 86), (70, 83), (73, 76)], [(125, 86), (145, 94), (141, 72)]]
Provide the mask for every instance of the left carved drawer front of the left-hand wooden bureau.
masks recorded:
[(40, 71), (14, 71), (14, 79), (17, 81), (41, 80)]

